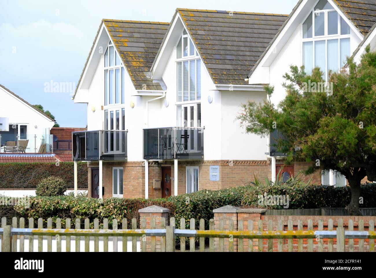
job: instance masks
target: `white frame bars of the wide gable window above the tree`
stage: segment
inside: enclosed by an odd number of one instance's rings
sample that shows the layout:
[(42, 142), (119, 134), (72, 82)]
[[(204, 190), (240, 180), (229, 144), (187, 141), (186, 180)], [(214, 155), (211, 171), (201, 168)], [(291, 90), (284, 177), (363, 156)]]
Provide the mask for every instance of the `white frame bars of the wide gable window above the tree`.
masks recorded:
[[(317, 1), (315, 3), (315, 5), (313, 6), (311, 12), (304, 18), (303, 22), (302, 22), (302, 45), (304, 45), (304, 43), (306, 42), (312, 42), (313, 44), (313, 49), (312, 49), (312, 65), (313, 65), (313, 68), (316, 67), (316, 64), (315, 64), (315, 42), (317, 41), (325, 41), (325, 68), (320, 68), (321, 71), (324, 71), (324, 80), (325, 81), (328, 81), (328, 77), (329, 77), (329, 68), (328, 68), (328, 41), (331, 41), (331, 40), (337, 40), (337, 44), (338, 44), (338, 71), (341, 69), (341, 66), (343, 66), (344, 64), (346, 64), (346, 62), (344, 63), (343, 61), (341, 61), (341, 39), (348, 39), (349, 40), (349, 44), (350, 44), (350, 33), (351, 33), (351, 30), (350, 30), (350, 27), (349, 25), (346, 23), (346, 21), (344, 20), (341, 20), (341, 15), (337, 12), (336, 9), (332, 8), (332, 9), (323, 9), (323, 10), (315, 10), (315, 6), (318, 4), (319, 1)], [(329, 35), (328, 34), (328, 14), (331, 13), (331, 12), (336, 12), (337, 13), (337, 34), (332, 34), (332, 35)], [(316, 14), (321, 14), (320, 16), (324, 16), (324, 35), (318, 35), (316, 36), (315, 35), (315, 15)], [(304, 23), (305, 21), (311, 17), (312, 19), (312, 37), (309, 37), (309, 38), (304, 38)], [(345, 23), (348, 27), (349, 27), (349, 32), (348, 34), (344, 34), (344, 35), (341, 35), (341, 24), (342, 23)], [(304, 47), (303, 47), (304, 49)], [(303, 53), (303, 51), (302, 51)], [(346, 56), (350, 56), (350, 51), (349, 53), (347, 53), (348, 55)], [(303, 53), (303, 57), (302, 57), (302, 64), (304, 64), (304, 61), (305, 61), (305, 57), (304, 57), (304, 53)], [(306, 68), (306, 72), (308, 74), (311, 73), (311, 70), (313, 68)]]

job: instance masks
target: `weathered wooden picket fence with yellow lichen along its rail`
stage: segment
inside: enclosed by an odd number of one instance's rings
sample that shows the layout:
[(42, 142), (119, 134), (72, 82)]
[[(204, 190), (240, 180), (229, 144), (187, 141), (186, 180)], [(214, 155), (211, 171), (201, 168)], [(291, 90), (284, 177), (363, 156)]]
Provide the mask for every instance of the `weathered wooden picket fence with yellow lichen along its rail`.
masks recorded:
[[(345, 239), (348, 239), (348, 251), (354, 252), (354, 239), (359, 240), (359, 252), (364, 250), (364, 240), (368, 240), (369, 251), (374, 252), (374, 239), (376, 239), (376, 233), (374, 232), (374, 222), (370, 220), (370, 230), (364, 231), (362, 228), (359, 231), (353, 231), (351, 228), (353, 226), (352, 220), (349, 221), (349, 230), (345, 231), (343, 227), (343, 220), (338, 220), (338, 227), (333, 230), (333, 220), (328, 221), (328, 230), (323, 229), (323, 221), (319, 221), (318, 230), (314, 231), (312, 220), (308, 220), (308, 229), (303, 230), (302, 220), (298, 221), (298, 229), (293, 229), (293, 221), (290, 219), (288, 221), (288, 230), (283, 230), (282, 220), (278, 222), (278, 230), (273, 231), (273, 222), (268, 221), (267, 231), (263, 230), (262, 220), (258, 222), (253, 222), (252, 220), (247, 221), (247, 231), (243, 231), (244, 223), (240, 220), (237, 225), (238, 229), (234, 230), (233, 220), (227, 220), (229, 229), (224, 230), (225, 220), (219, 220), (219, 230), (214, 229), (214, 219), (209, 220), (209, 230), (205, 230), (205, 222), (203, 219), (199, 221), (199, 230), (196, 230), (195, 219), (190, 219), (190, 229), (186, 229), (185, 219), (180, 219), (180, 229), (175, 228), (175, 219), (171, 217), (170, 225), (166, 225), (165, 219), (162, 218), (160, 228), (155, 228), (155, 219), (152, 219), (150, 229), (146, 228), (146, 219), (141, 219), (140, 228), (137, 228), (136, 219), (131, 220), (132, 229), (128, 229), (127, 219), (123, 219), (121, 222), (121, 229), (118, 229), (118, 222), (116, 219), (112, 222), (112, 229), (109, 229), (108, 219), (103, 220), (102, 229), (100, 229), (100, 224), (98, 219), (94, 219), (93, 227), (90, 229), (89, 219), (84, 220), (84, 227), (81, 227), (81, 219), (75, 220), (75, 228), (71, 226), (71, 219), (65, 219), (65, 228), (62, 228), (62, 220), (56, 219), (55, 228), (53, 228), (52, 219), (47, 219), (47, 228), (43, 228), (43, 219), (39, 218), (37, 221), (37, 228), (35, 228), (35, 220), (33, 218), (28, 219), (29, 228), (25, 228), (26, 223), (24, 218), (19, 219), (13, 217), (12, 225), (6, 225), (6, 218), (2, 218), (2, 228), (0, 228), (0, 235), (2, 236), (2, 246), (1, 251), (15, 252), (17, 251), (17, 242), (19, 242), (19, 251), (25, 251), (25, 239), (29, 240), (29, 252), (33, 252), (33, 241), (35, 236), (38, 240), (38, 252), (43, 251), (43, 239), (47, 239), (47, 251), (52, 252), (52, 237), (56, 236), (56, 251), (62, 251), (62, 237), (65, 237), (65, 249), (66, 252), (71, 252), (71, 237), (74, 237), (75, 241), (75, 252), (89, 252), (89, 241), (90, 237), (93, 237), (94, 241), (94, 252), (99, 252), (99, 240), (103, 240), (103, 251), (108, 252), (109, 239), (113, 242), (113, 251), (118, 252), (118, 239), (122, 240), (122, 251), (127, 252), (127, 242), (129, 237), (132, 242), (132, 252), (137, 251), (137, 242), (139, 240), (141, 251), (156, 251), (156, 238), (160, 239), (161, 252), (174, 252), (176, 237), (180, 238), (180, 252), (185, 251), (186, 238), (189, 238), (190, 242), (190, 252), (195, 252), (196, 249), (196, 238), (199, 238), (199, 251), (205, 251), (205, 238), (209, 238), (209, 249), (207, 251), (234, 251), (234, 239), (236, 240), (237, 252), (243, 252), (244, 250), (244, 239), (247, 239), (247, 251), (248, 252), (262, 252), (264, 251), (263, 241), (267, 240), (267, 250), (268, 252), (273, 252), (273, 240), (277, 240), (277, 251), (284, 251), (284, 242), (287, 240), (288, 251), (293, 252), (293, 240), (298, 241), (298, 252), (303, 251), (303, 239), (308, 242), (307, 251), (313, 252), (314, 240), (318, 241), (318, 252), (323, 252), (323, 239), (328, 239), (327, 244), (328, 252), (334, 251), (333, 240), (337, 240), (336, 249), (338, 252), (345, 251)], [(226, 222), (226, 225), (227, 225)], [(362, 227), (362, 220), (359, 220), (359, 227)], [(255, 228), (255, 229), (254, 229)], [(256, 231), (255, 231), (256, 230)], [(84, 237), (84, 250), (80, 249), (80, 240)], [(147, 250), (147, 240), (146, 237), (150, 237), (151, 247)], [(214, 240), (218, 239), (218, 247), (215, 250)], [(226, 245), (224, 241), (226, 240)], [(256, 246), (253, 243), (257, 242)], [(226, 248), (226, 250), (225, 250)]]

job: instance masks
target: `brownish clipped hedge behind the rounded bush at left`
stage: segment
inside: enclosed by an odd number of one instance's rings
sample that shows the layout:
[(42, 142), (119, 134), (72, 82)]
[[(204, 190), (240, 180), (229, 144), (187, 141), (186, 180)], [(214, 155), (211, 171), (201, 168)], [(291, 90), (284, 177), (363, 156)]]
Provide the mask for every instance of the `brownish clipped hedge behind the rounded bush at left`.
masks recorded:
[[(88, 188), (86, 162), (77, 163), (78, 188)], [(43, 178), (61, 177), (68, 188), (74, 188), (74, 163), (0, 163), (0, 188), (36, 188)]]

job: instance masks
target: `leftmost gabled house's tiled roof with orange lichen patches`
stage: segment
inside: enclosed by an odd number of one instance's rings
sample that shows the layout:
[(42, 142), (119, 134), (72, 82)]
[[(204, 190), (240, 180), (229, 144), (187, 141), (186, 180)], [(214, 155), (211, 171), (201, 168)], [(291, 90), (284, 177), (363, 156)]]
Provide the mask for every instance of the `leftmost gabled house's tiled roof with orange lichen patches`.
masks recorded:
[(145, 76), (170, 23), (103, 19), (136, 90), (162, 90)]

